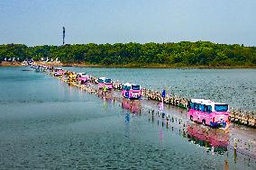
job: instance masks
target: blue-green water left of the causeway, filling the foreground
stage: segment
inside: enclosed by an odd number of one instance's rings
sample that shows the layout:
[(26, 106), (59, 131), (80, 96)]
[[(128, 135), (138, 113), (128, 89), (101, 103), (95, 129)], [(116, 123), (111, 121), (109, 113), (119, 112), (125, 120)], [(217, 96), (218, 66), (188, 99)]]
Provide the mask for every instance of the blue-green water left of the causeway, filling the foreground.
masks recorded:
[(255, 158), (228, 146), (202, 147), (178, 126), (166, 129), (145, 112), (22, 69), (0, 67), (0, 169), (256, 168)]

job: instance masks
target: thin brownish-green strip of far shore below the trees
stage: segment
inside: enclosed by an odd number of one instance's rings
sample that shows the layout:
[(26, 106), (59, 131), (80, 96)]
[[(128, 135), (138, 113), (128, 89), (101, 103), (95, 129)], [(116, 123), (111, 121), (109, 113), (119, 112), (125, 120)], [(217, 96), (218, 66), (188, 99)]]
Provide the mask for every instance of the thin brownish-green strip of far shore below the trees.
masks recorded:
[[(60, 62), (35, 62), (36, 65), (46, 65), (50, 67), (127, 67), (127, 68), (208, 68), (208, 69), (232, 69), (232, 68), (256, 68), (256, 66), (170, 66), (165, 64), (128, 64), (128, 65), (95, 65), (87, 63), (60, 63)], [(9, 62), (3, 61), (0, 63), (0, 67), (25, 67), (22, 62)]]

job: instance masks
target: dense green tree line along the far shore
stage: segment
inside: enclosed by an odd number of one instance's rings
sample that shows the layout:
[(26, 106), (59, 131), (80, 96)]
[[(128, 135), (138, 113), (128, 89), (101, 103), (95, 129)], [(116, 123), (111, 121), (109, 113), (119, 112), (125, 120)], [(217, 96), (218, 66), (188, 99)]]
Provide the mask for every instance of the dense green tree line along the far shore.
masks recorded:
[(0, 45), (0, 60), (20, 58), (40, 60), (59, 58), (62, 63), (87, 63), (104, 66), (146, 66), (164, 64), (173, 67), (255, 67), (256, 47), (216, 44), (209, 41), (178, 43), (115, 43), (35, 46)]

